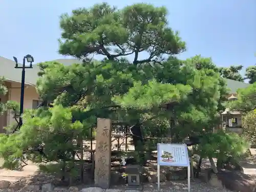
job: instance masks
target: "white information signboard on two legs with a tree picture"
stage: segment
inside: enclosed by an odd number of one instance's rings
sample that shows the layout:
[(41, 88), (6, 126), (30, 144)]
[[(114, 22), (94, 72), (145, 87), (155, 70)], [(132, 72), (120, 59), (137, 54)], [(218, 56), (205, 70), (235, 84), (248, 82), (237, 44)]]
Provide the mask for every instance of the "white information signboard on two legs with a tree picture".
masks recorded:
[(157, 144), (157, 187), (160, 191), (160, 166), (187, 167), (187, 188), (190, 192), (190, 163), (186, 144)]

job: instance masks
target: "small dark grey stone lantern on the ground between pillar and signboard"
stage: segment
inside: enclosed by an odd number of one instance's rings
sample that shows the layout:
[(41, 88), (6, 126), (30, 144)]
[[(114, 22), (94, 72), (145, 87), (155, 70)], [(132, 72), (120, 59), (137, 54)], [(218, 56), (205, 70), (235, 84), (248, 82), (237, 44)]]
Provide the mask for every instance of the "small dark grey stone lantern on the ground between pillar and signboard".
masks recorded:
[(128, 185), (130, 186), (140, 186), (140, 165), (126, 165), (125, 174), (128, 177)]

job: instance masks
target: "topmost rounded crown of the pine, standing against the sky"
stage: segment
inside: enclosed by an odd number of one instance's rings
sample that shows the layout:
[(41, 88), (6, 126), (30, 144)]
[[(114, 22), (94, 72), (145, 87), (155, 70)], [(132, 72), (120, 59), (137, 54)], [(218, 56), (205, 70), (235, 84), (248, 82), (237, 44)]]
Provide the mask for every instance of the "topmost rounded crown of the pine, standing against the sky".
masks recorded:
[[(78, 58), (95, 53), (112, 60), (135, 53), (134, 64), (181, 53), (185, 42), (178, 32), (167, 27), (166, 15), (166, 8), (148, 4), (117, 10), (103, 3), (73, 10), (72, 15), (61, 16), (61, 37), (65, 40), (61, 41), (59, 52)], [(150, 57), (138, 60), (138, 54), (145, 51)]]

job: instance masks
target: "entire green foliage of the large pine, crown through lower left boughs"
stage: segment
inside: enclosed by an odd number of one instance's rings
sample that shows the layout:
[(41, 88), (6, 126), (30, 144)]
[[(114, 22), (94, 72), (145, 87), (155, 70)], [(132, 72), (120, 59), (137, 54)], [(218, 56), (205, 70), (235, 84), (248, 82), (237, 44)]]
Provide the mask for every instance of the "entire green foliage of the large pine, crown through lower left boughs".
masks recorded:
[[(21, 129), (0, 139), (9, 167), (26, 158), (72, 169), (79, 143), (91, 137), (97, 117), (140, 124), (143, 136), (170, 136), (172, 142), (210, 133), (224, 109), (225, 81), (210, 58), (175, 56), (185, 50), (185, 42), (168, 27), (166, 15), (164, 7), (134, 4), (118, 10), (106, 3), (62, 15), (59, 52), (83, 63), (39, 63), (36, 89), (53, 108), (27, 111)], [(104, 59), (90, 61), (93, 54)], [(241, 152), (240, 140), (224, 133), (211, 136), (229, 138), (230, 147)], [(138, 161), (146, 159), (141, 151), (152, 149), (151, 144), (136, 147)]]

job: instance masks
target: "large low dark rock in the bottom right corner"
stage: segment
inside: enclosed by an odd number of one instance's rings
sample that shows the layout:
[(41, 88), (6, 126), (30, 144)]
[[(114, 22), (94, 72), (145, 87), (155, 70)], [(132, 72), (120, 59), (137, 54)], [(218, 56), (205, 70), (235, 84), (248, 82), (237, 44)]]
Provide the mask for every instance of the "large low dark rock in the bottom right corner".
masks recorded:
[(221, 170), (214, 174), (211, 169), (202, 172), (200, 178), (211, 186), (240, 192), (256, 192), (256, 176), (240, 172)]

